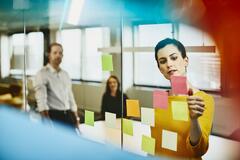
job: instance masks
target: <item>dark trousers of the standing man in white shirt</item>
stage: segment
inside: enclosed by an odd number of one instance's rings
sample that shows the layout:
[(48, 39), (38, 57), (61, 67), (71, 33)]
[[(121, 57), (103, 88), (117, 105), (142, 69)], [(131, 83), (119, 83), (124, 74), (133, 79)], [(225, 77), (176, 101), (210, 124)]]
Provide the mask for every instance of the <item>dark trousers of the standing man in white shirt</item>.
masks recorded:
[(76, 127), (76, 118), (72, 111), (59, 111), (59, 110), (49, 110), (48, 115), (51, 120), (55, 122), (62, 123), (68, 127), (75, 128)]

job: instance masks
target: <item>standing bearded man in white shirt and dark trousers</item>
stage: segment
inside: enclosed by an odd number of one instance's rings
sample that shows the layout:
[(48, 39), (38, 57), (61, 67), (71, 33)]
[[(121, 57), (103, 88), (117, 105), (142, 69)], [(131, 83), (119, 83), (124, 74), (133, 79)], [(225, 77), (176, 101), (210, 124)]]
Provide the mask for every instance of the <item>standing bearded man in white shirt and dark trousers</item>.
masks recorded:
[(63, 58), (63, 47), (52, 43), (48, 49), (48, 64), (35, 78), (35, 96), (38, 111), (51, 120), (79, 126), (77, 105), (72, 93), (71, 79), (66, 71), (60, 68)]

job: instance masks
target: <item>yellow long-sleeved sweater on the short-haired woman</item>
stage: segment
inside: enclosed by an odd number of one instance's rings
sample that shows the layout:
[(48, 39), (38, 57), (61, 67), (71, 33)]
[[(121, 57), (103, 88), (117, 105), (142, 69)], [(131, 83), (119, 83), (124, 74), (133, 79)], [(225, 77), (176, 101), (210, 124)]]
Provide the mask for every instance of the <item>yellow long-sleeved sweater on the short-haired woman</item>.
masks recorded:
[[(190, 119), (188, 121), (177, 121), (172, 118), (172, 101), (186, 101), (186, 96), (169, 96), (167, 109), (155, 109), (155, 127), (151, 127), (152, 137), (156, 139), (156, 154), (172, 157), (199, 158), (207, 152), (208, 136), (211, 132), (214, 100), (213, 97), (205, 92), (199, 91), (194, 96), (201, 97), (205, 102), (205, 111), (198, 118), (202, 137), (199, 143), (192, 146), (189, 141)], [(162, 130), (168, 130), (177, 133), (177, 151), (172, 151), (161, 147)]]

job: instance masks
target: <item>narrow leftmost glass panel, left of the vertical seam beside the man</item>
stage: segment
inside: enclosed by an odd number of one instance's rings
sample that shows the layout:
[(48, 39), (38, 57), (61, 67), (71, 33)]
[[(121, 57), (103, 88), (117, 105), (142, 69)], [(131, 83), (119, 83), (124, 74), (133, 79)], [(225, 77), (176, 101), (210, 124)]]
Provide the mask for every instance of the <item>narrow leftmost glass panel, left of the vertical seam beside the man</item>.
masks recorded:
[(1, 104), (26, 110), (25, 92), (25, 9), (20, 1), (1, 1), (0, 54)]

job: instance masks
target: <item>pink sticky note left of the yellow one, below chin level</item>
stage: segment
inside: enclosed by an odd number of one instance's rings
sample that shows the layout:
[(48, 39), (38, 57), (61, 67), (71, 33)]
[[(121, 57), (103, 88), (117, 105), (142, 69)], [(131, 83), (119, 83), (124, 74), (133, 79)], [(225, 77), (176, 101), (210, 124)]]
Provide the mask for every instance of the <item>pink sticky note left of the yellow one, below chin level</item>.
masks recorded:
[(163, 109), (168, 107), (168, 93), (166, 91), (153, 91), (153, 107)]

